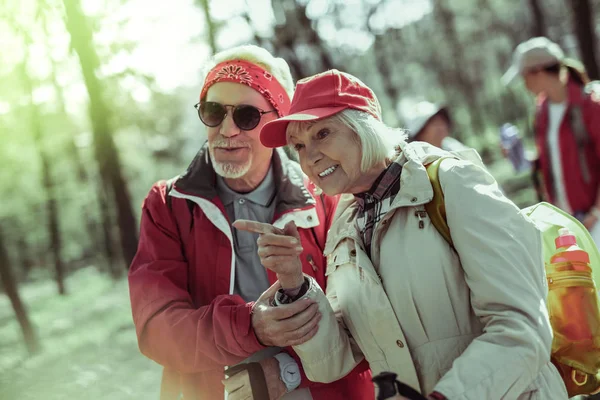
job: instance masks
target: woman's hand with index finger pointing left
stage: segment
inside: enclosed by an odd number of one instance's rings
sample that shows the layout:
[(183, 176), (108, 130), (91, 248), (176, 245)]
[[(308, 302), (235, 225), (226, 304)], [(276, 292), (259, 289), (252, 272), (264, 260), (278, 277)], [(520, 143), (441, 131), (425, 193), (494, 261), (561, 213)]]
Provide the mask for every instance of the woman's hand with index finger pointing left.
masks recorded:
[(302, 263), (298, 257), (302, 253), (300, 234), (296, 224), (288, 222), (283, 229), (271, 224), (239, 219), (233, 223), (236, 229), (260, 234), (258, 256), (265, 268), (277, 274), (284, 289), (293, 289), (304, 282)]

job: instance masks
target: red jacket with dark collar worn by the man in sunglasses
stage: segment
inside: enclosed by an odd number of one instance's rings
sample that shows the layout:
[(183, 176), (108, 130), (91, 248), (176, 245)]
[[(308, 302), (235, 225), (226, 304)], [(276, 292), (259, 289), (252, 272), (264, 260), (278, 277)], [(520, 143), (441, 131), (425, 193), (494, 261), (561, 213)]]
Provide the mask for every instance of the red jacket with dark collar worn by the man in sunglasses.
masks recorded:
[[(311, 195), (298, 164), (275, 151), (277, 185), (274, 223), (293, 219), (300, 228), (303, 270), (325, 287), (322, 248), (337, 200)], [(142, 206), (140, 241), (129, 271), (133, 320), (141, 352), (165, 367), (163, 398), (180, 390), (188, 399), (222, 399), (226, 365), (263, 349), (251, 325), (250, 310), (234, 295), (235, 256), (231, 225), (215, 189), (215, 172), (203, 148), (170, 191), (155, 184)], [(309, 193), (310, 192), (310, 193)], [(197, 206), (193, 220), (185, 198)], [(315, 204), (316, 203), (316, 204)], [(319, 220), (323, 223), (319, 224)], [(275, 282), (275, 274), (269, 271)], [(291, 348), (286, 349), (298, 362)], [(346, 378), (317, 384), (302, 377), (315, 400), (374, 398), (371, 374), (363, 362)]]

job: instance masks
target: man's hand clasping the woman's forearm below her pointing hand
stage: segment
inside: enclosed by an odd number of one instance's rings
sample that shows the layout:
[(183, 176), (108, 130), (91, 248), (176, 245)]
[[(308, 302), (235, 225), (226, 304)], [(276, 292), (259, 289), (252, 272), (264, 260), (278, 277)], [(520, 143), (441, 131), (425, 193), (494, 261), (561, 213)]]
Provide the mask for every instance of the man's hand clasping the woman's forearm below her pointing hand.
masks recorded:
[(254, 333), (265, 346), (287, 347), (302, 344), (317, 333), (321, 319), (319, 307), (310, 299), (273, 307), (270, 304), (279, 288), (279, 282), (276, 282), (254, 304)]

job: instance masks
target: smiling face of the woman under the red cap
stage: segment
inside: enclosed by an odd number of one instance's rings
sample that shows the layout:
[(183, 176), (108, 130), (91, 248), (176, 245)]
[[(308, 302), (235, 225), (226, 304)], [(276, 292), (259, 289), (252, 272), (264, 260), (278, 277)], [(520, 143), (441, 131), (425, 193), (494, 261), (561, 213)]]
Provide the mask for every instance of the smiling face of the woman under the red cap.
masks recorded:
[(360, 169), (362, 149), (356, 133), (340, 121), (325, 118), (289, 135), (304, 173), (325, 194), (360, 193), (370, 189)]

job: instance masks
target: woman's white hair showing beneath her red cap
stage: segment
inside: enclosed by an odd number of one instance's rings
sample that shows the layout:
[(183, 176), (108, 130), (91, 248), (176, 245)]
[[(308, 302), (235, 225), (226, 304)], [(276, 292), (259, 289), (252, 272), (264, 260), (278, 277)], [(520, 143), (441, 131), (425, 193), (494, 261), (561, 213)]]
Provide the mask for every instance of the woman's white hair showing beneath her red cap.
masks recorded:
[[(407, 138), (405, 130), (391, 128), (364, 111), (348, 108), (327, 119), (332, 122), (341, 122), (356, 133), (361, 146), (360, 170), (362, 172), (366, 172), (375, 165), (392, 158), (396, 153), (396, 145)], [(290, 135), (297, 135), (316, 122), (290, 122), (286, 131), (288, 142)]]

